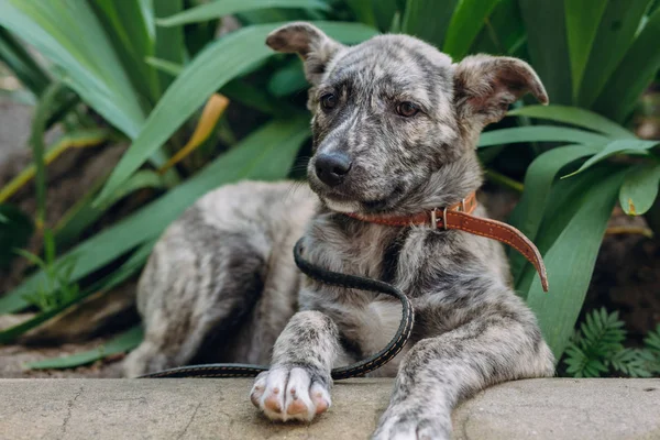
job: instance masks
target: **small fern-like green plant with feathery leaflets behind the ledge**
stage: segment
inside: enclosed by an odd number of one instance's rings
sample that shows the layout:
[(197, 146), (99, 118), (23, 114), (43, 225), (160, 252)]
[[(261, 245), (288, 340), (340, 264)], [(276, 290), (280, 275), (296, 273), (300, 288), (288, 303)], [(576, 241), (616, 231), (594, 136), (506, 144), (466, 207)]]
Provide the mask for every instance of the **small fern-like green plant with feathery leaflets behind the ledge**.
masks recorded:
[(660, 373), (660, 326), (649, 333), (641, 349), (624, 348), (626, 333), (617, 311), (591, 311), (566, 348), (566, 373), (573, 377), (650, 377)]

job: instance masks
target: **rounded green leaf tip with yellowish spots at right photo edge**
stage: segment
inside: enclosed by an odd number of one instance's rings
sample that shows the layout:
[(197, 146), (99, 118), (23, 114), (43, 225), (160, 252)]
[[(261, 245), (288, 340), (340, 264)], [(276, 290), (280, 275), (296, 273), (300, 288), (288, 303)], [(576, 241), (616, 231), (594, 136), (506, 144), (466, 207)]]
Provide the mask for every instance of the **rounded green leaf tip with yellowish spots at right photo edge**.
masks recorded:
[(658, 185), (660, 185), (659, 163), (631, 168), (619, 191), (619, 204), (624, 211), (629, 216), (646, 213), (658, 197)]

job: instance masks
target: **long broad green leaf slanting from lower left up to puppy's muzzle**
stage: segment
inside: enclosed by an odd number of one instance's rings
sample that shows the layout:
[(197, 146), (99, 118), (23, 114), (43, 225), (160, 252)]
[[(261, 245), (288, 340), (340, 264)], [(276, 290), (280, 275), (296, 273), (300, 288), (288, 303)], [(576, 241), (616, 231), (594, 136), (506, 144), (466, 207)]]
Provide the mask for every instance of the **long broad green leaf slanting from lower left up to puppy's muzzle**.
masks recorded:
[[(72, 280), (80, 279), (136, 245), (156, 239), (188, 206), (220, 185), (250, 178), (275, 180), (286, 177), (296, 153), (308, 136), (307, 118), (268, 123), (186, 183), (102, 230), (59, 260), (76, 257)], [(44, 273), (38, 272), (0, 298), (0, 315), (24, 308), (23, 295), (33, 292), (44, 279)]]

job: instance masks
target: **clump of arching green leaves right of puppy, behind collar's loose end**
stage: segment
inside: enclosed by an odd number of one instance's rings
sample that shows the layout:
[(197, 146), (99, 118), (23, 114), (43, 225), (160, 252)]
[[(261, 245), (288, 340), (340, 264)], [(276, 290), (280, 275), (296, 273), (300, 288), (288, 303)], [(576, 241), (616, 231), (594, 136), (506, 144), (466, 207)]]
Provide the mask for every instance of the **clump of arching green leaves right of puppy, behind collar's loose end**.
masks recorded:
[(642, 215), (656, 199), (657, 182), (639, 169), (653, 170), (651, 175), (660, 169), (656, 155), (660, 142), (639, 140), (615, 122), (578, 108), (529, 106), (509, 114), (580, 128), (502, 129), (484, 133), (480, 142), (481, 148), (503, 142), (558, 145), (540, 150), (527, 168), (522, 196), (508, 220), (536, 242), (546, 260), (550, 294), (542, 292), (531, 265), (509, 253), (516, 290), (537, 314), (559, 358), (582, 309), (615, 204), (626, 200), (627, 212)]

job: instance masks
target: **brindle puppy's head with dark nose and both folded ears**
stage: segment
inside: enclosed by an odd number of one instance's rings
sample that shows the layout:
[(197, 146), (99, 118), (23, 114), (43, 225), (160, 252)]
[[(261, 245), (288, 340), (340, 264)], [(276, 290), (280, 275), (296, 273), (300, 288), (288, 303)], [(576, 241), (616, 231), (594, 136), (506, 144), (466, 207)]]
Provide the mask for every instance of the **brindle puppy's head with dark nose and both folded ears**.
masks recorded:
[(333, 210), (410, 213), (454, 204), (482, 182), (475, 145), (527, 92), (547, 103), (516, 58), (449, 56), (406, 35), (346, 47), (309, 23), (268, 35), (304, 59), (314, 113), (311, 188)]

